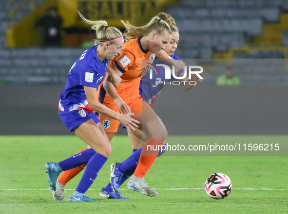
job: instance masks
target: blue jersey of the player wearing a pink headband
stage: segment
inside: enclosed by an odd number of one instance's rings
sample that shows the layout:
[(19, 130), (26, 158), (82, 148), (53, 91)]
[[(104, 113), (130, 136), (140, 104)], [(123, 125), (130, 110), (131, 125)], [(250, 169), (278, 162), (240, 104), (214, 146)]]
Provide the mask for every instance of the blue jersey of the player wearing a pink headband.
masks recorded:
[(84, 51), (71, 67), (65, 88), (60, 96), (58, 109), (62, 112), (70, 112), (85, 109), (88, 113), (93, 110), (89, 108), (85, 95), (84, 86), (97, 88), (102, 82), (108, 59), (101, 62), (96, 53), (98, 45)]

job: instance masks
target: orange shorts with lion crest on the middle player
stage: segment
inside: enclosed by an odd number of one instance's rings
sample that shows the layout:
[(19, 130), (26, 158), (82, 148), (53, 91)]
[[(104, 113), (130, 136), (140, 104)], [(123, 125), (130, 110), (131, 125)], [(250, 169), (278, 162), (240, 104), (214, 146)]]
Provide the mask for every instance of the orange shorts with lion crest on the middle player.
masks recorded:
[[(104, 102), (103, 105), (119, 113), (119, 110), (116, 104), (109, 104), (109, 103)], [(146, 109), (151, 108), (151, 106), (147, 102), (145, 102), (140, 96), (139, 96), (139, 99), (135, 99), (134, 102), (132, 102), (131, 104), (128, 104), (128, 106), (131, 109), (131, 112), (136, 115)], [(104, 130), (106, 133), (115, 133), (118, 131), (120, 121), (111, 119), (110, 117), (107, 117), (101, 114), (98, 115), (98, 118), (102, 126), (104, 127)]]

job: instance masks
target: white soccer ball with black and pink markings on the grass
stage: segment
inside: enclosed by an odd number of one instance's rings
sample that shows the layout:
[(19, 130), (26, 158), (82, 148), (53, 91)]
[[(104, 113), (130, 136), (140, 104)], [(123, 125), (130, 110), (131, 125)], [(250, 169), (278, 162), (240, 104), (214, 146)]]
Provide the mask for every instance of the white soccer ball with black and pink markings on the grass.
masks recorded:
[(205, 191), (214, 199), (223, 199), (229, 196), (232, 188), (230, 178), (223, 173), (214, 173), (205, 182)]

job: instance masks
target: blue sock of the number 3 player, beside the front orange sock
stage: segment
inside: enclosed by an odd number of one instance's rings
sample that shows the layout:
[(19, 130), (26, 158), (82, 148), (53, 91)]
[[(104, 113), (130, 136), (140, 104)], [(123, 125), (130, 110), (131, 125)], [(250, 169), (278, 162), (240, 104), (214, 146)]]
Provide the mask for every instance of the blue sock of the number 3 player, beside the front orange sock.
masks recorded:
[[(124, 173), (122, 179), (121, 179), (121, 182), (120, 182), (120, 185), (126, 181), (131, 175), (134, 174), (134, 171), (137, 167), (137, 164), (138, 164), (138, 161), (139, 161), (139, 158), (140, 158), (140, 155), (141, 155), (141, 151), (142, 151), (142, 148), (139, 148), (139, 149), (133, 149), (133, 154), (130, 155), (125, 161), (123, 161), (122, 163), (120, 163), (118, 165), (118, 168), (121, 172), (125, 172), (123, 170), (126, 170), (126, 172)], [(121, 165), (121, 169), (120, 169), (120, 165)], [(123, 167), (124, 165), (124, 167)], [(125, 166), (126, 165), (126, 166)], [(130, 167), (130, 168), (129, 168)], [(111, 186), (111, 183), (109, 182), (106, 186), (105, 186), (105, 190), (106, 191), (113, 191), (112, 189), (112, 186)]]

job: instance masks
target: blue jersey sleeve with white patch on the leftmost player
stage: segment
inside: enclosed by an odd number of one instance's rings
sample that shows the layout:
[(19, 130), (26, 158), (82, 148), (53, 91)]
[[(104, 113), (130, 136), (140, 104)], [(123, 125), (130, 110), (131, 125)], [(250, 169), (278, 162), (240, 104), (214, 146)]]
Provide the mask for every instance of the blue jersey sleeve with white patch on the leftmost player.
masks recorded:
[(92, 67), (82, 66), (79, 74), (80, 85), (97, 88), (103, 78), (101, 75), (97, 74), (96, 70)]

